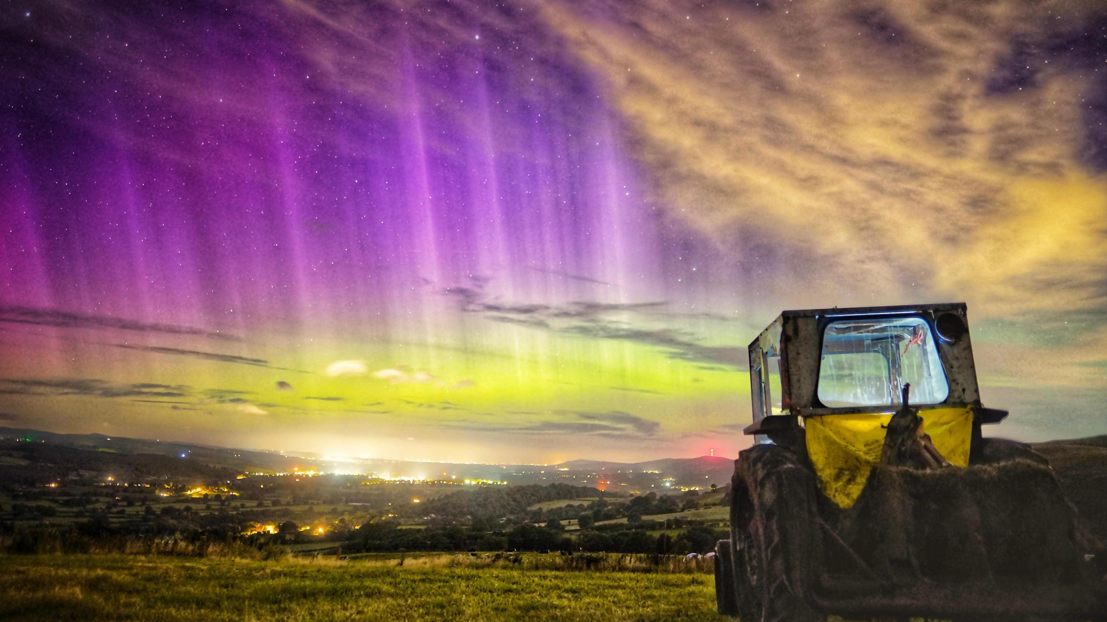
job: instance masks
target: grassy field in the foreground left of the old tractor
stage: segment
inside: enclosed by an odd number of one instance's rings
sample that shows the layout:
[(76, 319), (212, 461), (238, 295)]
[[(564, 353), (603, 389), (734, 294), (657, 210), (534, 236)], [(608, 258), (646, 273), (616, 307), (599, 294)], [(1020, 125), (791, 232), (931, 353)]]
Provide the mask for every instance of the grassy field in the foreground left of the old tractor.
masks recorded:
[(724, 621), (708, 573), (0, 556), (0, 620)]

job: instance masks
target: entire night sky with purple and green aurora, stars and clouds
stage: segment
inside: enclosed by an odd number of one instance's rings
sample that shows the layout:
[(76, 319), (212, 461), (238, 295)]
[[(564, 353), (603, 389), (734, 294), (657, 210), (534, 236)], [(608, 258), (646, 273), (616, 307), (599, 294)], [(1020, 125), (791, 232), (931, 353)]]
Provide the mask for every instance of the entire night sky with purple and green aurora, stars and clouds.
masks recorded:
[(733, 456), (780, 310), (963, 300), (995, 433), (1107, 432), (1098, 2), (0, 11), (0, 425)]

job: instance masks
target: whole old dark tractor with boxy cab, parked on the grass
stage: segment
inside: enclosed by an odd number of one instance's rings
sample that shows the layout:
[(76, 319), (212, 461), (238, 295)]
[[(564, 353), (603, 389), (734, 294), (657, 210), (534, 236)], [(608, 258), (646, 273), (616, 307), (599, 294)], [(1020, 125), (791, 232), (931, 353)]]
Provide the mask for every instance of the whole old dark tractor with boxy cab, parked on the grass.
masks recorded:
[(785, 311), (749, 344), (755, 444), (716, 547), (742, 622), (1107, 620), (1048, 462), (986, 438), (964, 304)]

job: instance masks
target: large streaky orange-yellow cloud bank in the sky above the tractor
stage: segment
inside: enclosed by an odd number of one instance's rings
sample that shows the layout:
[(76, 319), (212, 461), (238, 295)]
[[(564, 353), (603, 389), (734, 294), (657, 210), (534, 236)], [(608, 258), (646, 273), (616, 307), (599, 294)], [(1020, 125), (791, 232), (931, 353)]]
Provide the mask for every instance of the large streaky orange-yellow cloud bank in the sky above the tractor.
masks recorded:
[(751, 294), (1101, 305), (1101, 6), (537, 7), (602, 76), (652, 203), (754, 267)]

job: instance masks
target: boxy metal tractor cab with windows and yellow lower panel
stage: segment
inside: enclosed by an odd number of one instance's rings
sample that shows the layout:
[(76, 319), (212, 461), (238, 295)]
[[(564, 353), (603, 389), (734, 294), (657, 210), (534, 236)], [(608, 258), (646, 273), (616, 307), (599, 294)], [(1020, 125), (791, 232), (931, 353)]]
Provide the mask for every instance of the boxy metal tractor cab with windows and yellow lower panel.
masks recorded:
[(904, 387), (923, 429), (958, 466), (969, 464), (980, 425), (1006, 411), (984, 408), (976, 386), (964, 303), (785, 311), (749, 344), (757, 443), (797, 427), (823, 491), (848, 508), (875, 466)]

